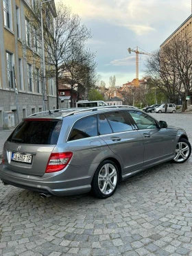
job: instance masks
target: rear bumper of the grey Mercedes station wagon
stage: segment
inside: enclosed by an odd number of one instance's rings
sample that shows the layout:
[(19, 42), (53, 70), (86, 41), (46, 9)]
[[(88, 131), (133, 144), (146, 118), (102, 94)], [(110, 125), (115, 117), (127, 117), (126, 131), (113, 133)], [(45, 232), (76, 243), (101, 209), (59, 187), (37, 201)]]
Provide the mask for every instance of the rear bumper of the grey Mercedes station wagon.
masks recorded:
[[(71, 171), (73, 167), (70, 167), (69, 169)], [(1, 181), (15, 187), (21, 187), (23, 189), (29, 189), (38, 193), (51, 194), (54, 196), (84, 194), (91, 190), (92, 176), (82, 176), (64, 180), (63, 172), (60, 175), (55, 174), (54, 176), (50, 176), (49, 174), (49, 176), (47, 175), (48, 177), (46, 175), (44, 175), (45, 177), (39, 177), (19, 174), (8, 170), (2, 164), (0, 165)]]

